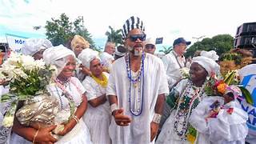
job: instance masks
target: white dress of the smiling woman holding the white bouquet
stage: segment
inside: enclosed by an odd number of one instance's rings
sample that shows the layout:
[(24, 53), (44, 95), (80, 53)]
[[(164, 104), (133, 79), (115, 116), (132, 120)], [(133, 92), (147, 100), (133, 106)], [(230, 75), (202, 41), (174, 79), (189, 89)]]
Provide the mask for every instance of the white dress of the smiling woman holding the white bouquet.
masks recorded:
[[(58, 99), (59, 108), (61, 109), (58, 114), (64, 118), (66, 118), (66, 112), (70, 111), (69, 101), (68, 99), (62, 95), (62, 89), (58, 86), (49, 86), (48, 90), (51, 95), (54, 95)], [(71, 77), (70, 82), (66, 82), (65, 90), (71, 94), (72, 99), (74, 100), (74, 105), (79, 106), (82, 102), (82, 95), (85, 93), (85, 89), (82, 86), (82, 83), (79, 82), (78, 78)], [(18, 134), (12, 134), (11, 143), (17, 144), (27, 144), (32, 143), (27, 141), (25, 138), (20, 137)], [(62, 138), (58, 139), (57, 144), (90, 144), (90, 133), (83, 122), (82, 118), (79, 120), (78, 124), (74, 126), (74, 128)]]

